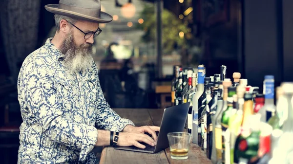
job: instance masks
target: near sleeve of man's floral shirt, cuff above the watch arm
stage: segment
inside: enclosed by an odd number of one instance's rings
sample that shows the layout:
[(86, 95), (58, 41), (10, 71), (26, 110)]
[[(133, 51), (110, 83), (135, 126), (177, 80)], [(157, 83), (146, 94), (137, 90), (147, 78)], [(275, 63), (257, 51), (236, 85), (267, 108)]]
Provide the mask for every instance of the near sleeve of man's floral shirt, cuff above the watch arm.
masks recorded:
[[(29, 114), (42, 126), (53, 142), (80, 148), (80, 160), (94, 148), (98, 131), (95, 127), (77, 124), (64, 117), (52, 75), (41, 67), (26, 69), (22, 74), (26, 106)], [(28, 73), (29, 72), (29, 73)]]

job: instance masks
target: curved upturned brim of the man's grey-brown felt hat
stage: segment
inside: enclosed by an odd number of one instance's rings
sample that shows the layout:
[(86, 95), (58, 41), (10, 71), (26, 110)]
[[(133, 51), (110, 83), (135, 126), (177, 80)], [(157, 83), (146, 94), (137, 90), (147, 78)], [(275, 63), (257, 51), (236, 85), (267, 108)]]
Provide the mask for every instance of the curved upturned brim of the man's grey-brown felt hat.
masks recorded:
[(95, 18), (95, 17), (90, 17), (84, 14), (68, 11), (68, 10), (63, 10), (58, 8), (58, 4), (47, 4), (45, 5), (45, 9), (54, 14), (60, 14), (63, 16), (71, 17), (71, 18), (77, 18), (77, 19), (82, 19), (82, 20), (87, 20), (87, 21), (93, 21), (97, 23), (108, 23), (113, 20), (113, 17), (103, 11), (101, 11), (101, 17), (100, 18)]

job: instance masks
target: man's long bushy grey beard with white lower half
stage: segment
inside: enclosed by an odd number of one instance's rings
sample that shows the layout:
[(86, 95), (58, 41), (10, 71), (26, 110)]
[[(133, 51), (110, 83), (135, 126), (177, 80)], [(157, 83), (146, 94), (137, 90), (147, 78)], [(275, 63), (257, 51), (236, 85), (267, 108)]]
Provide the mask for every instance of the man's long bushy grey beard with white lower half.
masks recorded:
[(64, 56), (64, 65), (70, 73), (84, 72), (92, 66), (93, 52), (91, 44), (77, 46), (72, 34), (68, 34), (60, 47)]

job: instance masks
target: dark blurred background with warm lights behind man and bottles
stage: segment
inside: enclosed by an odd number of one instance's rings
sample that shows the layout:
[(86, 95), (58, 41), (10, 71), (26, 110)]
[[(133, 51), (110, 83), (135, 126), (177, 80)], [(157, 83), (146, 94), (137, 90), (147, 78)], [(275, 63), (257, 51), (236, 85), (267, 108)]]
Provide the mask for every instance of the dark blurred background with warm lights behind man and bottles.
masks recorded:
[[(0, 158), (17, 161), (22, 122), (16, 82), (25, 57), (55, 34), (44, 5), (59, 0), (0, 0)], [(227, 66), (262, 87), (293, 81), (292, 0), (101, 0), (113, 21), (100, 24), (94, 59), (112, 108), (164, 108), (173, 66)], [(167, 89), (159, 91), (160, 86)], [(164, 93), (164, 96), (162, 96)], [(163, 100), (164, 99), (164, 100)]]

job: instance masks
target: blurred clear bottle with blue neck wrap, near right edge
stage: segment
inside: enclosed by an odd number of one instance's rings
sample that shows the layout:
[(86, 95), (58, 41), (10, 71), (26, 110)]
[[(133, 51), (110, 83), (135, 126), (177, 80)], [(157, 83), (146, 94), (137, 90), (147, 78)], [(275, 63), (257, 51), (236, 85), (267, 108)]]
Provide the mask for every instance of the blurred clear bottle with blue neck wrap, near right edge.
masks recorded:
[(260, 121), (267, 122), (275, 113), (276, 107), (274, 105), (274, 76), (265, 75), (264, 80), (265, 91), (265, 105), (258, 113), (261, 114)]

